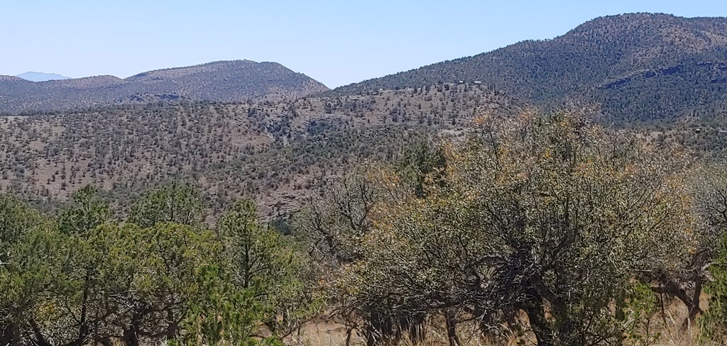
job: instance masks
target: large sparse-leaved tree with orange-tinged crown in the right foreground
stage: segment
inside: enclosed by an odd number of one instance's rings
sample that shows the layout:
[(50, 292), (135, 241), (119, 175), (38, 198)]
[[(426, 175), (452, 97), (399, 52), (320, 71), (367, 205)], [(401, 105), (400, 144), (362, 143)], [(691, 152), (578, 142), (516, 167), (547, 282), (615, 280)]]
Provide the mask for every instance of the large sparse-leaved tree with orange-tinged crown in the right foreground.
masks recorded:
[(472, 319), (539, 345), (618, 344), (643, 339), (654, 309), (644, 273), (679, 271), (697, 241), (688, 166), (670, 154), (573, 115), (481, 120), (423, 186), (346, 178), (303, 220), (342, 265), (332, 296), (369, 345), (422, 339), (427, 316), (443, 316), (451, 345)]

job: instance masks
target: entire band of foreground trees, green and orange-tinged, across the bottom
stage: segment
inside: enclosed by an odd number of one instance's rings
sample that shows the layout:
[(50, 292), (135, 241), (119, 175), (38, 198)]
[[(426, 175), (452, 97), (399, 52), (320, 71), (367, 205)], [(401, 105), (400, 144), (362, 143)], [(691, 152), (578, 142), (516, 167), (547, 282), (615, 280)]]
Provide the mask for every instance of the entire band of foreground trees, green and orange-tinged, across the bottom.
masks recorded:
[(56, 213), (0, 194), (0, 342), (310, 345), (330, 321), (340, 345), (725, 340), (723, 162), (574, 114), (475, 123), (357, 165), (286, 228), (246, 199), (204, 223), (180, 181), (121, 213), (93, 186)]

